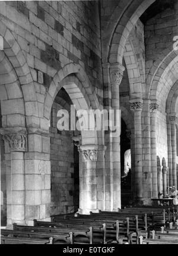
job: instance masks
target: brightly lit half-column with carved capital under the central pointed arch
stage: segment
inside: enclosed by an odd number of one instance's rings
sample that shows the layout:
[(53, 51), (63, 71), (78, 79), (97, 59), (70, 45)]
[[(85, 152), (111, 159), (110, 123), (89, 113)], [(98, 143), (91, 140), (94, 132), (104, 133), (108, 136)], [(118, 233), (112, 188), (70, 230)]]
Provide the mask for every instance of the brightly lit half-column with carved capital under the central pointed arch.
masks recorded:
[(80, 146), (84, 158), (82, 168), (82, 188), (80, 187), (80, 209), (82, 214), (90, 211), (98, 212), (97, 209), (97, 159), (98, 146)]

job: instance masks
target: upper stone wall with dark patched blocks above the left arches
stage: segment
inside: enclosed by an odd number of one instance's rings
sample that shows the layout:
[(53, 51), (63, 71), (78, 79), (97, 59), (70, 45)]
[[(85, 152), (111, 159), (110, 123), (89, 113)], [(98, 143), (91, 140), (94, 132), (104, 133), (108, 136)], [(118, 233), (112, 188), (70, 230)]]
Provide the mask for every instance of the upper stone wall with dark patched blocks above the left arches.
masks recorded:
[(37, 93), (40, 84), (49, 88), (56, 71), (71, 62), (84, 68), (99, 93), (98, 1), (1, 1), (0, 14), (23, 50)]

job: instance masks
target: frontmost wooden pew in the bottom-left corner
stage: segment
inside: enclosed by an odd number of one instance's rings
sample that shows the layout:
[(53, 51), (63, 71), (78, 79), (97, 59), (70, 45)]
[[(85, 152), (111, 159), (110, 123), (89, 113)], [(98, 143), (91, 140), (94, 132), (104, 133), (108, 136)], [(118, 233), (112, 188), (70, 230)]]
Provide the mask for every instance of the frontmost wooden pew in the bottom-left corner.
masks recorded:
[(53, 238), (39, 239), (39, 238), (16, 238), (1, 235), (1, 244), (52, 244)]

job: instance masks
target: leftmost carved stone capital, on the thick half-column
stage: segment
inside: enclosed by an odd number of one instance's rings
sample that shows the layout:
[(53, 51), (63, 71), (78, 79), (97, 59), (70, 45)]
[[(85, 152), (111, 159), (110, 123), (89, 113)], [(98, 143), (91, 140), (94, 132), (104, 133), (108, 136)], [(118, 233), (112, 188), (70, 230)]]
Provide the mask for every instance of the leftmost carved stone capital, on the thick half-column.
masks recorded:
[(25, 152), (27, 150), (27, 135), (23, 133), (5, 134), (4, 141), (8, 143), (10, 152)]

